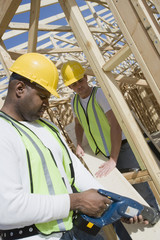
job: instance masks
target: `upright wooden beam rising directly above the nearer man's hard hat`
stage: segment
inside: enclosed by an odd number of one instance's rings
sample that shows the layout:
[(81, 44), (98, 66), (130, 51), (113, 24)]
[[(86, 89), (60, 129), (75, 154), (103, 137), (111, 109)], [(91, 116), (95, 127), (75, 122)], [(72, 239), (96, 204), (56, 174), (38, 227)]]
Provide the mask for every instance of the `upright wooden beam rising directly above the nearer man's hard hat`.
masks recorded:
[(30, 23), (28, 33), (28, 52), (35, 52), (37, 47), (40, 2), (40, 0), (31, 0)]

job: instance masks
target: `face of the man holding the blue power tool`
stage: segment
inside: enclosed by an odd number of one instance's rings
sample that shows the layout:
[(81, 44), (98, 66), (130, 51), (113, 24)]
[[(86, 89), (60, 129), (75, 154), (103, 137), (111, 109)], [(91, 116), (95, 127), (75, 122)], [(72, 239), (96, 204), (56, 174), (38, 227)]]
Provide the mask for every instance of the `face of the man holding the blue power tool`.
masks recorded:
[(49, 106), (49, 97), (50, 93), (47, 90), (31, 84), (25, 85), (18, 104), (21, 120), (32, 122), (42, 117), (44, 111)]

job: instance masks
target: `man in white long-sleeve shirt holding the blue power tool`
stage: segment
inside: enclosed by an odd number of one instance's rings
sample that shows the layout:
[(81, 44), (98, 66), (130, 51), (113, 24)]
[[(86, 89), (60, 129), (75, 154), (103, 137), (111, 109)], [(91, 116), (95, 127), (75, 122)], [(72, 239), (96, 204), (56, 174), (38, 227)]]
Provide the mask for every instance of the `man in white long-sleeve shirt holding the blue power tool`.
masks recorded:
[(70, 151), (57, 127), (41, 118), (50, 95), (58, 97), (55, 65), (41, 54), (27, 53), (10, 70), (0, 111), (2, 239), (102, 240), (73, 227), (72, 215), (78, 210), (99, 217), (109, 200), (97, 193), (102, 186)]

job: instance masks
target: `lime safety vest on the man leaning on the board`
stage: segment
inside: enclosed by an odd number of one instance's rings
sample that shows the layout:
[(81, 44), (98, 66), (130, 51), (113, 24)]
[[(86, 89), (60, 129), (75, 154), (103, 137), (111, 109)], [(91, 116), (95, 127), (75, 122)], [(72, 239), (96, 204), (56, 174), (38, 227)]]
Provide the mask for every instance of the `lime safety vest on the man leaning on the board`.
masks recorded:
[(110, 125), (96, 100), (97, 89), (97, 87), (94, 87), (92, 90), (86, 112), (78, 94), (73, 99), (73, 107), (92, 151), (95, 154), (101, 152), (108, 157), (111, 152)]

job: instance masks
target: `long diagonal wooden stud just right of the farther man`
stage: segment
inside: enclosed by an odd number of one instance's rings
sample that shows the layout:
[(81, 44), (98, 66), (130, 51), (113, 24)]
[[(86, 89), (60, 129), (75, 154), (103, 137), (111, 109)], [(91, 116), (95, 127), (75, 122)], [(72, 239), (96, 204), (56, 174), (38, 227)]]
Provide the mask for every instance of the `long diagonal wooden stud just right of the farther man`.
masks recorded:
[(137, 161), (142, 169), (144, 166), (147, 168), (158, 192), (160, 193), (160, 167), (145, 142), (121, 91), (118, 89), (113, 74), (110, 72), (105, 73), (103, 71), (102, 67), (105, 64), (105, 60), (99, 51), (76, 2), (74, 0), (59, 0), (59, 2), (70, 26), (72, 27), (79, 46), (83, 49), (97, 81), (102, 87), (102, 90), (129, 141)]

